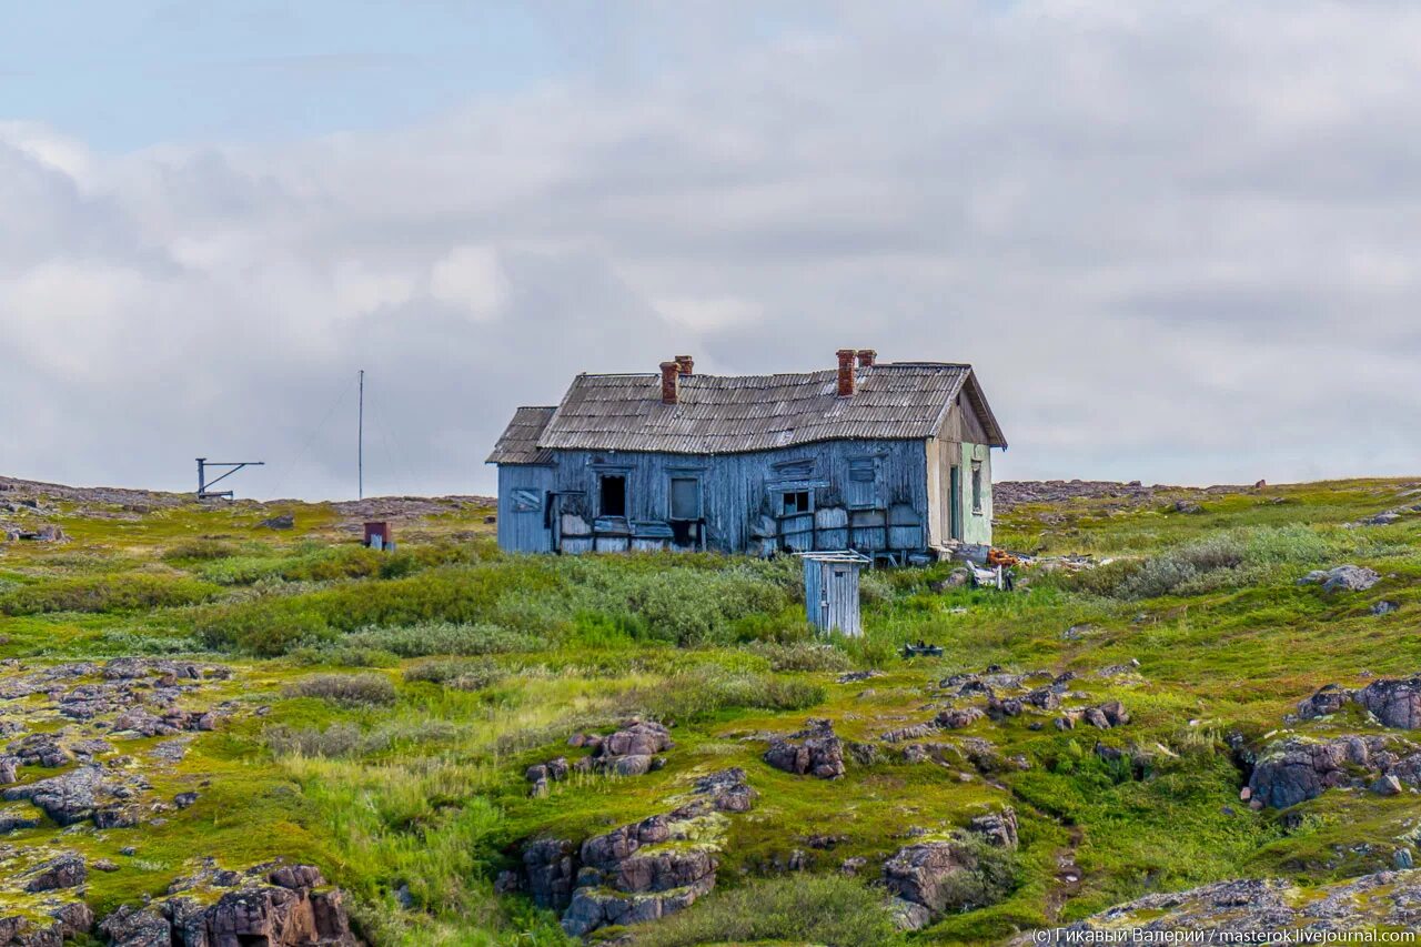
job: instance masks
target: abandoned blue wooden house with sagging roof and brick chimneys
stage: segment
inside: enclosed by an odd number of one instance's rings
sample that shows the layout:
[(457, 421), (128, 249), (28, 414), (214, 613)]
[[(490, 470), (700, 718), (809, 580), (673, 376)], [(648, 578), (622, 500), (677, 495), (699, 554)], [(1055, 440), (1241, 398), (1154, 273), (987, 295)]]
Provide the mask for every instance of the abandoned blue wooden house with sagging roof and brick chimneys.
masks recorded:
[(924, 562), (992, 540), (1006, 439), (971, 365), (838, 351), (803, 374), (580, 374), (519, 408), (499, 466), (512, 552), (854, 549)]

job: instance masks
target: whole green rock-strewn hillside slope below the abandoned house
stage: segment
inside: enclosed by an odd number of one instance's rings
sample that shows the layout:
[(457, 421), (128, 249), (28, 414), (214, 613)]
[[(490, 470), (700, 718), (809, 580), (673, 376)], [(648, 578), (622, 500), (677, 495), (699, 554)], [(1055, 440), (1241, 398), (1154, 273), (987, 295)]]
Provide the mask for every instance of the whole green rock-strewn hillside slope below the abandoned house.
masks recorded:
[(480, 498), (0, 481), (0, 931), (983, 944), (1417, 884), (1366, 879), (1421, 825), (1421, 485), (1007, 492), (1016, 592), (874, 572), (823, 643), (793, 560), (507, 557)]

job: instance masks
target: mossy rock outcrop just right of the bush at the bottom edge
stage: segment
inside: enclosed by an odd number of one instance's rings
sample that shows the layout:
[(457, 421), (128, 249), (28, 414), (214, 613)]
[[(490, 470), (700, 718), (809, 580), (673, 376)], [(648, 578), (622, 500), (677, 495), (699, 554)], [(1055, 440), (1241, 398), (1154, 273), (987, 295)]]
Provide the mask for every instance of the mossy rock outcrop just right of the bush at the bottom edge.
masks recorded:
[(952, 838), (899, 849), (882, 870), (898, 926), (918, 930), (948, 911), (995, 901), (1007, 882), (1003, 856), (1016, 843), (1016, 812), (1003, 809)]

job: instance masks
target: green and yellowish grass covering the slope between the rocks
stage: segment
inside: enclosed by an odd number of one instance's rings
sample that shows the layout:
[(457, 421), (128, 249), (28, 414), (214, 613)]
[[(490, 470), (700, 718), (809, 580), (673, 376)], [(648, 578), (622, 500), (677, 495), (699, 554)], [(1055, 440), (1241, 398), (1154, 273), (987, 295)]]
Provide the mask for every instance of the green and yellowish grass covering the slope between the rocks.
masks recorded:
[[(1000, 515), (1002, 545), (1087, 555), (1096, 567), (1026, 570), (1013, 594), (938, 592), (946, 565), (874, 572), (867, 634), (853, 641), (811, 637), (793, 560), (510, 557), (477, 509), (404, 529), (399, 553), (377, 555), (324, 505), (104, 516), (71, 506), (57, 520), (72, 543), (0, 555), (0, 657), (190, 654), (236, 668), (207, 700), (250, 712), (151, 776), (162, 793), (198, 791), (195, 806), (145, 830), (134, 857), (119, 855), (132, 838), (122, 830), (64, 836), (121, 863), (91, 874), (101, 907), (161, 894), (198, 855), (233, 867), (286, 855), (350, 892), (374, 944), (564, 944), (550, 913), (493, 890), (520, 843), (581, 840), (666, 812), (698, 776), (740, 766), (757, 801), (723, 826), (716, 892), (631, 929), (635, 944), (899, 943), (872, 886), (881, 863), (912, 838), (1010, 805), (1022, 843), (1009, 883), (969, 899), (995, 903), (901, 938), (1002, 943), (1150, 892), (1241, 876), (1322, 882), (1415, 847), (1421, 802), (1410, 795), (1324, 793), (1286, 826), (1252, 812), (1231, 751), (1270, 732), (1366, 727), (1285, 715), (1322, 684), (1421, 663), (1421, 518), (1349, 526), (1405, 489), (1347, 481), (1188, 495), (1201, 513), (1175, 512), (1172, 495), (1022, 506)], [(293, 512), (297, 528), (259, 529), (274, 512)], [(1343, 562), (1371, 566), (1381, 583), (1350, 594), (1297, 584)], [(1400, 607), (1371, 614), (1381, 600)], [(944, 657), (898, 657), (918, 638)], [(1097, 674), (1131, 661), (1127, 674)], [(929, 738), (939, 762), (926, 764), (880, 742), (936, 712), (938, 681), (988, 664), (1074, 671), (1071, 688), (1121, 700), (1133, 722), (1060, 732), (1049, 715), (982, 719)], [(848, 670), (880, 674), (840, 684)], [(608, 732), (630, 715), (672, 725), (664, 768), (574, 772), (529, 795), (527, 766), (576, 761), (587, 751), (568, 747), (570, 734)], [(766, 766), (766, 735), (809, 717), (878, 748), (834, 782)], [(1138, 762), (1101, 759), (1097, 741)], [(47, 826), (7, 843), (57, 838)], [(796, 852), (807, 869), (784, 874)], [(1083, 873), (1069, 892), (1054, 880), (1063, 853)], [(858, 880), (840, 874), (847, 859), (864, 859)]]

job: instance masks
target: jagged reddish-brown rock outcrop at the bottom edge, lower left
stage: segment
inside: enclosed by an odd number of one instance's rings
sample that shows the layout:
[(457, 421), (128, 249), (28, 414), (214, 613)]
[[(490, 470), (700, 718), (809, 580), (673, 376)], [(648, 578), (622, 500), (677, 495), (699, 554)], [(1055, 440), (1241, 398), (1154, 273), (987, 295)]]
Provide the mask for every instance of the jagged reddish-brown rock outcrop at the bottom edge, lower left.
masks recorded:
[[(200, 880), (199, 880), (200, 879)], [(114, 947), (355, 947), (344, 899), (308, 865), (244, 874), (207, 872), (193, 883), (230, 880), (215, 901), (172, 892), (162, 903), (121, 907), (99, 923)]]

